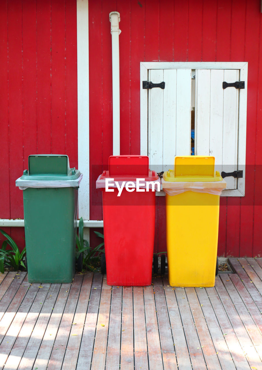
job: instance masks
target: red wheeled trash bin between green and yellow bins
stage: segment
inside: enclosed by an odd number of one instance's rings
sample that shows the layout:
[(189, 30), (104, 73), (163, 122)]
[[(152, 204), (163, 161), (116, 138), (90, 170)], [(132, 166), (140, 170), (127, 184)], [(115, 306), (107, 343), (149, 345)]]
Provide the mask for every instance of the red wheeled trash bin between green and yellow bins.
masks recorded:
[(109, 157), (109, 171), (96, 181), (103, 192), (108, 285), (151, 285), (157, 182), (149, 158), (141, 155)]

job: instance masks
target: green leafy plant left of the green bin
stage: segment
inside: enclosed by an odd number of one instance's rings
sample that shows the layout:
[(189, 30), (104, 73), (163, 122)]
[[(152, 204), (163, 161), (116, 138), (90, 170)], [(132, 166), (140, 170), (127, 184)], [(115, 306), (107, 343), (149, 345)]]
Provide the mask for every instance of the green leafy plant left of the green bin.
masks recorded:
[[(11, 236), (1, 229), (0, 232), (6, 238), (6, 240), (3, 241), (0, 249), (0, 272), (4, 272), (4, 265), (12, 267), (15, 271), (20, 270), (21, 266), (25, 268), (23, 262), (23, 258), (26, 253), (25, 248), (20, 253), (16, 242), (11, 238)], [(11, 247), (11, 249), (6, 249), (8, 245)]]

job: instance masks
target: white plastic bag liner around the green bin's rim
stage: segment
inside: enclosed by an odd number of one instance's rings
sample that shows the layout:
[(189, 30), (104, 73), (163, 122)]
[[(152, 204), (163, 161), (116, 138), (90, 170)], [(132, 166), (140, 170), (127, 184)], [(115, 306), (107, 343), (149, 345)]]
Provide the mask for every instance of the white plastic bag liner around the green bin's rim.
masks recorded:
[(25, 190), (27, 188), (76, 188), (79, 186), (83, 174), (74, 180), (54, 180), (54, 181), (39, 181), (39, 180), (21, 180), (18, 178), (16, 180), (16, 186), (19, 186), (20, 190)]

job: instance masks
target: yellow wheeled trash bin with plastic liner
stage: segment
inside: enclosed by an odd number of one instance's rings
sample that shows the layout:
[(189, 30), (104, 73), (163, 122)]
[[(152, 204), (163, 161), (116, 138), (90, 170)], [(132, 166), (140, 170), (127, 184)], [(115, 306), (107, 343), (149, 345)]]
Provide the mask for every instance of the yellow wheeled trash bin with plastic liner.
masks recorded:
[(175, 157), (174, 170), (163, 174), (171, 286), (215, 285), (219, 201), (226, 182), (214, 166), (214, 157)]

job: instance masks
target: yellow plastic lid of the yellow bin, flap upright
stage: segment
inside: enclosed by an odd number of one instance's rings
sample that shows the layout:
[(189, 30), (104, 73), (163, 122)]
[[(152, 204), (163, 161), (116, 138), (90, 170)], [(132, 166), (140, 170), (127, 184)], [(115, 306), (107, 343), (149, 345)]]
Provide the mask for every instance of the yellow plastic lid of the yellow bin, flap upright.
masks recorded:
[(175, 157), (174, 171), (164, 172), (165, 181), (222, 181), (220, 173), (215, 171), (215, 157), (204, 155), (186, 155)]

